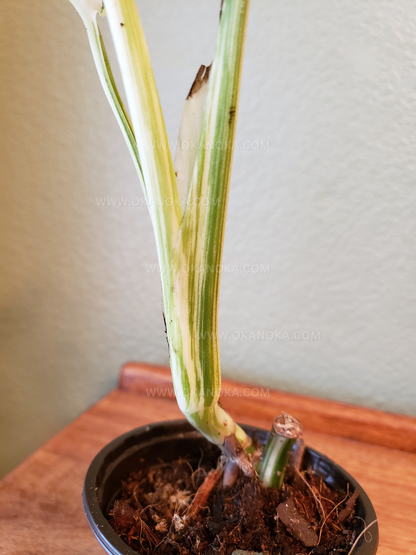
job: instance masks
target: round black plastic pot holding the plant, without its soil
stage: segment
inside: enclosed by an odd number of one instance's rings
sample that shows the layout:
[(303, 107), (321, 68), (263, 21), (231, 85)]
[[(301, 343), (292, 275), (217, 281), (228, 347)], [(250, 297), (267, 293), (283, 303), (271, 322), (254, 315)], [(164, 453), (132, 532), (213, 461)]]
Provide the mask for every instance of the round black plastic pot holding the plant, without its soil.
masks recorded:
[[(260, 443), (265, 443), (268, 432), (242, 426), (250, 436), (256, 436)], [(124, 434), (102, 449), (91, 463), (85, 477), (83, 503), (88, 522), (95, 537), (110, 555), (137, 555), (114, 532), (105, 515), (108, 514), (114, 500), (120, 495), (121, 481), (132, 470), (158, 467), (179, 457), (184, 457), (192, 464), (198, 464), (201, 450), (206, 460), (215, 463), (219, 449), (211, 445), (201, 434), (192, 428), (186, 420), (157, 422), (149, 426), (136, 428)], [(356, 514), (367, 524), (375, 520), (376, 514), (367, 494), (361, 486), (340, 466), (307, 447), (303, 466), (312, 467), (328, 485), (338, 489), (360, 490), (357, 499)], [(378, 525), (371, 527), (371, 540), (364, 538), (354, 550), (354, 555), (375, 555), (378, 545)], [(368, 535), (369, 536), (369, 535)], [(368, 538), (367, 538), (368, 539)]]

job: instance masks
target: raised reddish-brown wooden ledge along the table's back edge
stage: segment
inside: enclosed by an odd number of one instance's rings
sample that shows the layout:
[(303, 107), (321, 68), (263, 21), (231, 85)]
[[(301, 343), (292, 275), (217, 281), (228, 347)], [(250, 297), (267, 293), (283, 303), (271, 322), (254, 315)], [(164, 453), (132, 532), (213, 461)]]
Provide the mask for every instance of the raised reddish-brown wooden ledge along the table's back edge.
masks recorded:
[[(120, 388), (175, 400), (170, 369), (164, 366), (129, 362), (122, 368)], [(270, 421), (273, 411), (286, 411), (311, 432), (416, 453), (416, 418), (231, 380), (223, 379), (221, 389), (221, 403), (235, 420)]]

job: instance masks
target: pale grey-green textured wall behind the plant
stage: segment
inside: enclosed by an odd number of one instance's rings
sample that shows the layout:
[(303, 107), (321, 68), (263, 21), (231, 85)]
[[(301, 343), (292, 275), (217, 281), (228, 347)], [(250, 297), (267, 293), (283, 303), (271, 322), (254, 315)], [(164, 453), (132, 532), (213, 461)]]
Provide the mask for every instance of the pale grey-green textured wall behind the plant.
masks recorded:
[[(218, 3), (139, 2), (172, 140)], [(70, 3), (2, 0), (0, 72), (5, 472), (167, 352), (149, 218)], [(416, 415), (415, 3), (252, 0), (242, 87), (224, 374)]]

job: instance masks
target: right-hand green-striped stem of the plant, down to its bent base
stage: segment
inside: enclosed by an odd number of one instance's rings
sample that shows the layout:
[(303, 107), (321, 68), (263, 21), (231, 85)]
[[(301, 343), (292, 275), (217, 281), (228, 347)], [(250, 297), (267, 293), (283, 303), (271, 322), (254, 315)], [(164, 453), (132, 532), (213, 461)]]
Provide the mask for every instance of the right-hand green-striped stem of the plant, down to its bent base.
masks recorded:
[(196, 166), (173, 258), (176, 313), (167, 318), (175, 390), (180, 392), (184, 381), (189, 388), (181, 405), (184, 414), (211, 441), (222, 445), (236, 434), (244, 446), (250, 440), (218, 405), (218, 301), (247, 15), (246, 0), (224, 0)]

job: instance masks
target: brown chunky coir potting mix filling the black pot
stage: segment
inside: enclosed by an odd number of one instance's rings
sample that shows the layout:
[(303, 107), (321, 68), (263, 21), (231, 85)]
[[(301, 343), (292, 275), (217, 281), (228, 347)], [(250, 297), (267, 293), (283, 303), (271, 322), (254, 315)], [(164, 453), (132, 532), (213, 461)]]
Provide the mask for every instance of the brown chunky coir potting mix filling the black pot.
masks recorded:
[(214, 480), (195, 510), (209, 472), (201, 461), (194, 469), (179, 460), (131, 473), (110, 524), (144, 555), (346, 555), (363, 528), (354, 516), (358, 492), (330, 489), (312, 470), (290, 467), (281, 491), (241, 474), (230, 488)]

